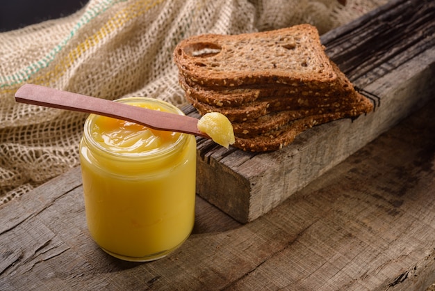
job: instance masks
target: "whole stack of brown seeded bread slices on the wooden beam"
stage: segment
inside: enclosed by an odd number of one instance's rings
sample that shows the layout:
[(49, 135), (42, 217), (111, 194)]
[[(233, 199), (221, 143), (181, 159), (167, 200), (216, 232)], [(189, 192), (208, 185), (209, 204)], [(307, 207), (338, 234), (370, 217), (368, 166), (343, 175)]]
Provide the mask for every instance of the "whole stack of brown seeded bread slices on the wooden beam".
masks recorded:
[(177, 45), (174, 61), (187, 100), (202, 115), (227, 116), (233, 146), (247, 151), (278, 150), (314, 125), (373, 109), (329, 60), (309, 24), (193, 36)]

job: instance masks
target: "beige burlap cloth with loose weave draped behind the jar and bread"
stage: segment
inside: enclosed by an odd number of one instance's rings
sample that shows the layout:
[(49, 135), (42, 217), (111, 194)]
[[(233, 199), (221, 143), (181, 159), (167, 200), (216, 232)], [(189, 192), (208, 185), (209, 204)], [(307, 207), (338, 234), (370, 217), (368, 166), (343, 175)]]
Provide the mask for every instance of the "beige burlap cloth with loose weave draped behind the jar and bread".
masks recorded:
[(110, 100), (155, 97), (182, 107), (172, 61), (182, 38), (300, 23), (325, 33), (386, 1), (90, 0), (69, 17), (0, 33), (0, 205), (79, 165), (87, 115), (17, 104), (22, 84)]

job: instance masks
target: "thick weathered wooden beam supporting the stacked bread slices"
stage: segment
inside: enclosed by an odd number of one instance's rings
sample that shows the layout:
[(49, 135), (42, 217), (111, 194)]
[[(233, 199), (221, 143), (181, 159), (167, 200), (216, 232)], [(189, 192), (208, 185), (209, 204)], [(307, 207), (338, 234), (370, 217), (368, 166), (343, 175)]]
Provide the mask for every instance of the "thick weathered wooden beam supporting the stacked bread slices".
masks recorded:
[[(434, 1), (391, 1), (321, 37), (375, 112), (309, 129), (277, 152), (250, 153), (198, 139), (197, 192), (242, 223), (272, 210), (434, 97)], [(198, 116), (195, 109), (186, 109)]]

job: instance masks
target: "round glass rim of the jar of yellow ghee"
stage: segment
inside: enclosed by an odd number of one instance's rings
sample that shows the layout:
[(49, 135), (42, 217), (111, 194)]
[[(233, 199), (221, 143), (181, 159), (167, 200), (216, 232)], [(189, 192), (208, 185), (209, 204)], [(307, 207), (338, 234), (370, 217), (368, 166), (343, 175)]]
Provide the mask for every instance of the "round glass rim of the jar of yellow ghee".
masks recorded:
[[(167, 109), (171, 113), (177, 113), (179, 115), (184, 115), (183, 111), (174, 105), (165, 102), (163, 100), (158, 100), (151, 97), (140, 97), (140, 96), (132, 96), (132, 97), (122, 97), (117, 100), (113, 100), (113, 102), (122, 102), (122, 103), (133, 103), (133, 102), (150, 102), (151, 104), (158, 104), (159, 106)], [(91, 132), (92, 125), (95, 123), (95, 120), (100, 116), (97, 114), (91, 113), (88, 118), (85, 120), (84, 128), (83, 128), (83, 137), (86, 141), (88, 141), (88, 145), (92, 146), (92, 148), (96, 148), (97, 150), (104, 152), (104, 155), (109, 155), (114, 159), (151, 159), (158, 158), (161, 156), (170, 155), (171, 152), (176, 151), (178, 148), (182, 147), (184, 143), (186, 143), (188, 134), (180, 133), (177, 140), (172, 142), (170, 146), (165, 146), (163, 148), (154, 148), (152, 150), (147, 150), (143, 152), (113, 152), (109, 148), (101, 146), (100, 143), (95, 141)]]

